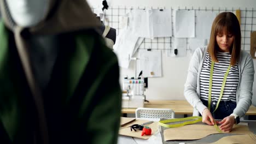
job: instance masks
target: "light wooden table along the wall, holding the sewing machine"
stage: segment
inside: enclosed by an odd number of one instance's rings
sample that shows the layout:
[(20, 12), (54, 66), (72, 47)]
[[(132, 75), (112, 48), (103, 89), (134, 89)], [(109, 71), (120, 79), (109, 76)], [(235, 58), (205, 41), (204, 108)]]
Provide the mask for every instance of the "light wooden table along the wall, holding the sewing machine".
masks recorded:
[[(149, 100), (144, 107), (172, 109), (176, 115), (193, 115), (193, 107), (186, 100)], [(122, 108), (122, 113), (135, 113), (136, 108)], [(256, 107), (251, 105), (246, 115), (256, 115)]]

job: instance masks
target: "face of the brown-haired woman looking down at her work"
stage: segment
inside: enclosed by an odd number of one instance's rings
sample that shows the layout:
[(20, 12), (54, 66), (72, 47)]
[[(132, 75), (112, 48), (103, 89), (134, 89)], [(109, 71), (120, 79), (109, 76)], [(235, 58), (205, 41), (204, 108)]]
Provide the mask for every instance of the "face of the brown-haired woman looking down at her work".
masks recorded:
[(216, 35), (216, 41), (219, 46), (219, 51), (229, 52), (230, 47), (234, 43), (235, 36), (231, 33), (218, 33)]

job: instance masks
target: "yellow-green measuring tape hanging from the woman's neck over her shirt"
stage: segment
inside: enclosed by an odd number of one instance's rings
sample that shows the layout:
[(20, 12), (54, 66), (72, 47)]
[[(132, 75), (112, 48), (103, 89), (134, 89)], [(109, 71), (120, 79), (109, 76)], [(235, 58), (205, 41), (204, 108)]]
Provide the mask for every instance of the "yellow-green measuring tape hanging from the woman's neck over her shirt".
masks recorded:
[[(209, 110), (211, 110), (210, 108), (211, 108), (211, 100), (212, 100), (213, 68), (214, 68), (214, 62), (212, 61), (212, 63), (211, 63), (211, 71), (210, 71), (210, 81), (209, 81), (209, 95), (208, 95), (208, 109)], [(228, 70), (226, 70), (226, 73), (224, 75), (223, 82), (222, 82), (222, 88), (220, 89), (219, 99), (218, 99), (217, 105), (216, 105), (216, 107), (215, 107), (213, 112), (215, 112), (218, 109), (219, 102), (222, 99), (222, 95), (223, 95), (224, 87), (225, 87), (225, 83), (226, 83), (226, 77), (228, 77), (230, 68), (231, 68), (231, 65), (229, 65), (229, 68), (228, 68)]]

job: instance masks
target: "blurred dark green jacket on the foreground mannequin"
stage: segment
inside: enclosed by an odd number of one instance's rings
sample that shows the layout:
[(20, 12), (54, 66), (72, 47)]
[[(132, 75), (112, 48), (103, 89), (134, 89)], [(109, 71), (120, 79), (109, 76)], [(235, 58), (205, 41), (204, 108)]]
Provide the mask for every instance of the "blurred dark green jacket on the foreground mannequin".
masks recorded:
[[(117, 57), (92, 29), (63, 33), (60, 38), (61, 52), (42, 94), (49, 143), (117, 143)], [(33, 134), (38, 133), (34, 125), (40, 125), (36, 112), (14, 35), (1, 22), (0, 143), (33, 143)]]

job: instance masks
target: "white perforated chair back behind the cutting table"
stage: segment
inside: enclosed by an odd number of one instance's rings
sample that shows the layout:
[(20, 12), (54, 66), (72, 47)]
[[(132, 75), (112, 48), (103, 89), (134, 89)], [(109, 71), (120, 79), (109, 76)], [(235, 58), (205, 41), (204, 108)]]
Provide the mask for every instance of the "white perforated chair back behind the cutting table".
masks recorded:
[(138, 107), (135, 112), (136, 118), (174, 118), (174, 111), (171, 109), (152, 109)]

